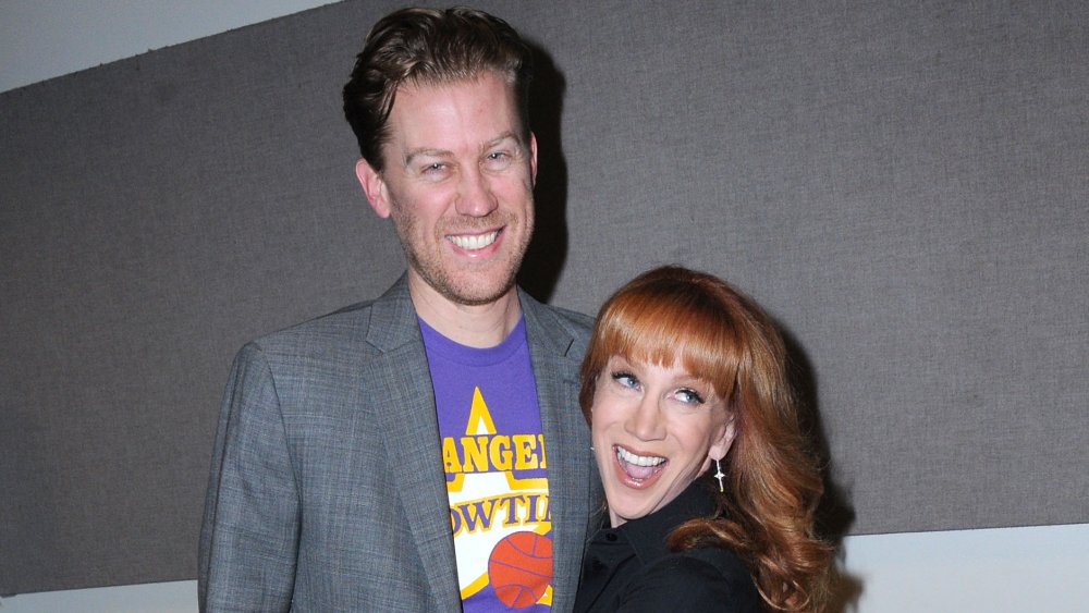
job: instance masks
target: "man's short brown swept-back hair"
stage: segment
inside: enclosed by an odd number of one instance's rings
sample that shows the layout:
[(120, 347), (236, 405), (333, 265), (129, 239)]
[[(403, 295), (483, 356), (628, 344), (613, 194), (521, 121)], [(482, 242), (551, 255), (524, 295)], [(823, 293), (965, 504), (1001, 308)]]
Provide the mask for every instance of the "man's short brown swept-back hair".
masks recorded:
[(472, 79), (487, 71), (514, 87), (522, 136), (528, 139), (533, 57), (513, 27), (464, 7), (402, 9), (387, 15), (371, 28), (344, 86), (344, 117), (359, 154), (382, 170), (387, 121), (401, 86)]

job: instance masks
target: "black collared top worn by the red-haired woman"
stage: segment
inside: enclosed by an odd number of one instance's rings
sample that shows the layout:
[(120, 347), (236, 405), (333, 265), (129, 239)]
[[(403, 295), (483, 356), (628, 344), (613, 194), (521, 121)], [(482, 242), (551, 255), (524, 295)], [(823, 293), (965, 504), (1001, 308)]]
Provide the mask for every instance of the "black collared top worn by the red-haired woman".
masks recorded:
[(733, 551), (665, 548), (673, 528), (714, 512), (706, 487), (694, 481), (657, 512), (599, 529), (583, 561), (575, 612), (761, 611), (756, 584)]

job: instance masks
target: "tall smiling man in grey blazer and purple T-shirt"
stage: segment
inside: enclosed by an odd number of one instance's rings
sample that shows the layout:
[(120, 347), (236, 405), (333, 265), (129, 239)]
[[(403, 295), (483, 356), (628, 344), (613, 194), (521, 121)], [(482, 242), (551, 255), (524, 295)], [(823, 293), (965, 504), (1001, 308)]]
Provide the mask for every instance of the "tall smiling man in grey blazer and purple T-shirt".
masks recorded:
[(371, 30), (344, 108), (408, 270), (240, 352), (201, 610), (572, 608), (600, 500), (577, 402), (589, 320), (514, 284), (534, 225), (529, 61), (468, 9)]

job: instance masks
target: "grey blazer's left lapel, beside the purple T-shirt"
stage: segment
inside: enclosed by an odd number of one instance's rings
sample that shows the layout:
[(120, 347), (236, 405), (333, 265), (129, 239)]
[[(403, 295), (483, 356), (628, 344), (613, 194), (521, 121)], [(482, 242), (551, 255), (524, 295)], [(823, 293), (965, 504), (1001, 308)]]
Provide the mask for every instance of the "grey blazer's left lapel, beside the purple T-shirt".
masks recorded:
[(365, 380), (374, 381), (386, 399), (378, 410), (388, 463), (397, 471), (396, 495), (405, 513), (429, 587), (440, 611), (461, 609), (457, 566), (450, 531), (450, 506), (435, 393), (419, 323), (402, 279), (376, 301), (367, 341), (383, 351), (367, 365)]

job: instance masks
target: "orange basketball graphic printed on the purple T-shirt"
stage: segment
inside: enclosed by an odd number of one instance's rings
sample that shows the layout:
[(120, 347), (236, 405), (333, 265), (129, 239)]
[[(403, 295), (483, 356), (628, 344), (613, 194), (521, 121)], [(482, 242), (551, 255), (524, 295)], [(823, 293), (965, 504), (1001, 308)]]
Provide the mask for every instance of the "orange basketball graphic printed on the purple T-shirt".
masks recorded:
[(505, 537), (488, 557), (488, 579), (503, 604), (533, 605), (552, 581), (552, 539), (528, 531)]

